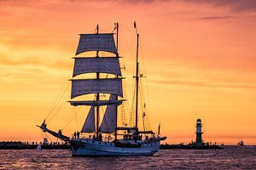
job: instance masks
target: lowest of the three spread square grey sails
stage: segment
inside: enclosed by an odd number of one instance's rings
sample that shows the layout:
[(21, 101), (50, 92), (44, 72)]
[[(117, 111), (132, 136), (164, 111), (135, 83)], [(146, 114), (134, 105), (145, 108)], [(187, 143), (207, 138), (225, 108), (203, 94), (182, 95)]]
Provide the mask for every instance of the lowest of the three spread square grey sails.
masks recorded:
[(122, 79), (73, 79), (71, 98), (84, 94), (115, 94), (123, 97)]

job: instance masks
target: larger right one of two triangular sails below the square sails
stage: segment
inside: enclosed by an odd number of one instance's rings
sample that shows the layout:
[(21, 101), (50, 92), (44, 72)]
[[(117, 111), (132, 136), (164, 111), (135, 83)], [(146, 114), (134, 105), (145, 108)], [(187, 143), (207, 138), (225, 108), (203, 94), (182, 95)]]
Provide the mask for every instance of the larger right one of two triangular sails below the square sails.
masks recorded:
[[(109, 100), (114, 100), (115, 96), (110, 95)], [(102, 125), (100, 127), (100, 132), (102, 133), (112, 133), (116, 128), (116, 105), (108, 105), (105, 115), (102, 119)]]

